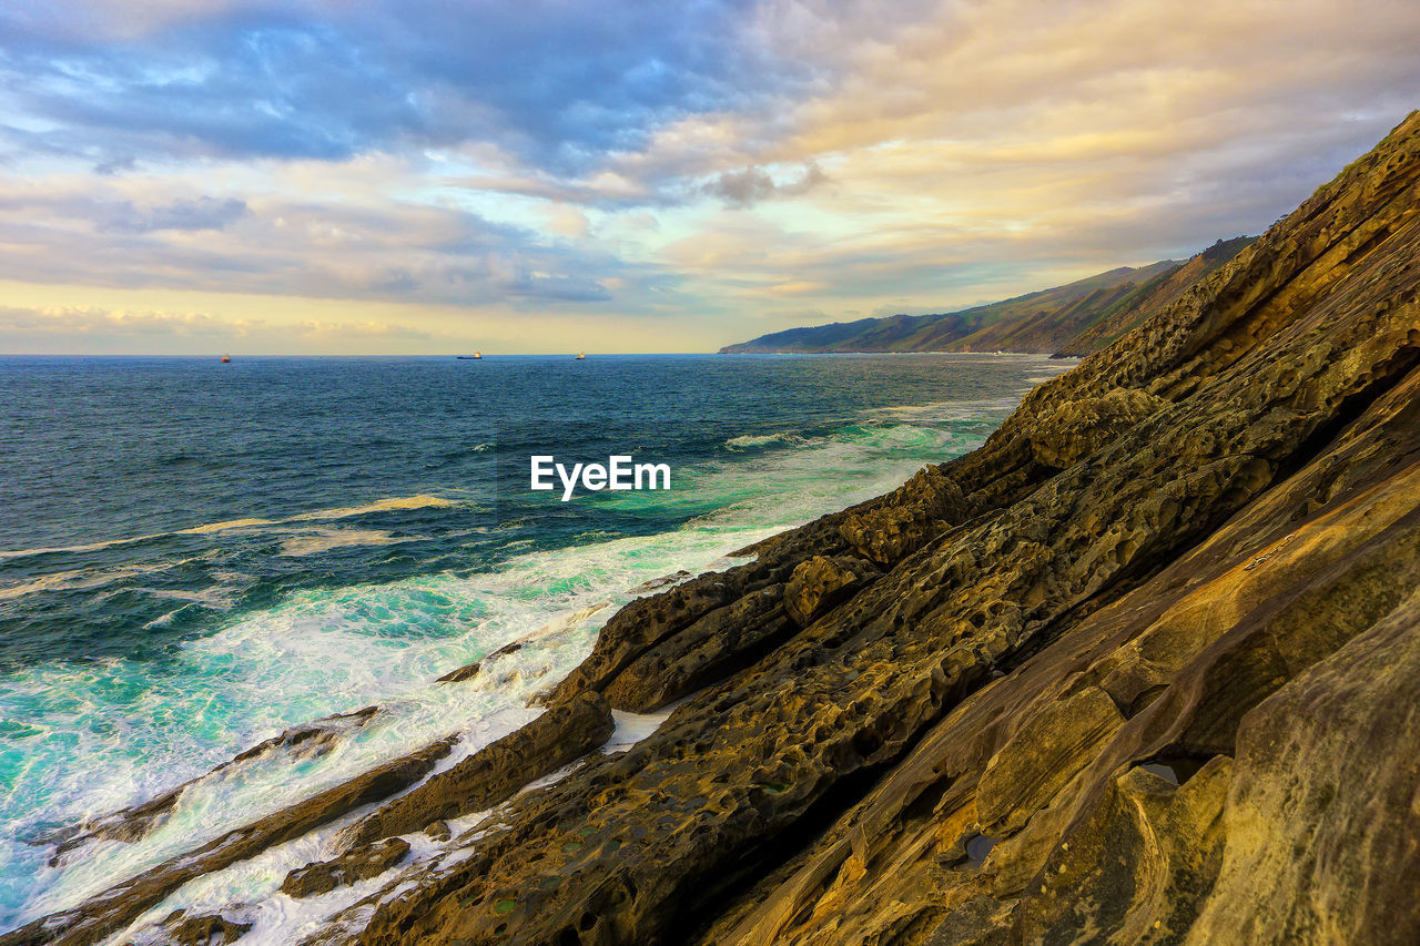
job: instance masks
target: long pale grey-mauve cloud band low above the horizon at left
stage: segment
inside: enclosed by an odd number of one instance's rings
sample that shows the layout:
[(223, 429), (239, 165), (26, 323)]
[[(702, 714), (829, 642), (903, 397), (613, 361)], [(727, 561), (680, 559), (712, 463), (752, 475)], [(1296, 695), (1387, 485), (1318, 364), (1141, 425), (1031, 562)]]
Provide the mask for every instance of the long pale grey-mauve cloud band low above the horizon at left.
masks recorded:
[[(0, 185), (0, 243), (11, 247), (0, 278), (453, 307), (602, 304), (611, 280), (630, 297), (665, 280), (575, 234), (457, 207), (368, 193), (153, 200), (175, 179), (102, 180)], [(568, 227), (586, 226), (568, 213)]]

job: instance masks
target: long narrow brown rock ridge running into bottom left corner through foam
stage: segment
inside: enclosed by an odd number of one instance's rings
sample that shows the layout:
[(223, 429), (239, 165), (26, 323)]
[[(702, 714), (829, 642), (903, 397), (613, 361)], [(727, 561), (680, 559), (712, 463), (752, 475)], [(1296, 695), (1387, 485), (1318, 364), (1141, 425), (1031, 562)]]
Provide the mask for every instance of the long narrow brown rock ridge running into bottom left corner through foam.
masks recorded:
[(449, 754), (454, 739), (443, 739), (364, 776), (283, 808), (207, 844), (116, 884), (81, 906), (54, 913), (0, 936), (3, 946), (88, 946), (138, 919), (179, 886), (244, 861), (270, 847), (298, 838), (361, 805), (381, 801), (415, 784)]

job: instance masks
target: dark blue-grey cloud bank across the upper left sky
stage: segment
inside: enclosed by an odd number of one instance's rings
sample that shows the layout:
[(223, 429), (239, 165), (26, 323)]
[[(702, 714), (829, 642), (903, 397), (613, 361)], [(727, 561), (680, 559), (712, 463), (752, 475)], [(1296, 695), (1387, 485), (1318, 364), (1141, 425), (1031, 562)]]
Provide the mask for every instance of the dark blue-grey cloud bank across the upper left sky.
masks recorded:
[(0, 75), (47, 146), (108, 166), (496, 142), (569, 172), (792, 84), (748, 6), (170, 3), (135, 26), (58, 0), (0, 13)]

